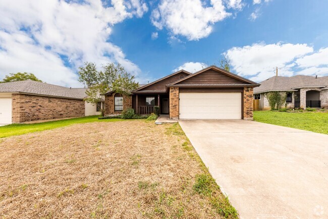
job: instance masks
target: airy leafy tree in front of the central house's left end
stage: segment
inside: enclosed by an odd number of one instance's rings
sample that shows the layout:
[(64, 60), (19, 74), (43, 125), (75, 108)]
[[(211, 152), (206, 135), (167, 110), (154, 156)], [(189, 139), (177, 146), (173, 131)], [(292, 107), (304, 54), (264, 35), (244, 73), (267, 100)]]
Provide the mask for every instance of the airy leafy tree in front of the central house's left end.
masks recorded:
[[(86, 62), (84, 67), (79, 68), (79, 81), (88, 88), (87, 102), (96, 104), (101, 99), (101, 95), (114, 90), (121, 93), (123, 101), (131, 95), (131, 91), (138, 88), (138, 83), (134, 82), (134, 76), (127, 73), (120, 64), (110, 63), (102, 66), (102, 71), (97, 70), (95, 63)], [(101, 109), (104, 116), (104, 109)]]

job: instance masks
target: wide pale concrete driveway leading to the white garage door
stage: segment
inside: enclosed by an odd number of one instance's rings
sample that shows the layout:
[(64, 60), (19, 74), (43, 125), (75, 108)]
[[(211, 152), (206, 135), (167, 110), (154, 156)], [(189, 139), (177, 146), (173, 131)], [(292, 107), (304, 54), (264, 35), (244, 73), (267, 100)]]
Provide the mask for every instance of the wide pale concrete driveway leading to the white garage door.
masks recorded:
[(328, 218), (328, 135), (244, 120), (179, 124), (241, 218)]

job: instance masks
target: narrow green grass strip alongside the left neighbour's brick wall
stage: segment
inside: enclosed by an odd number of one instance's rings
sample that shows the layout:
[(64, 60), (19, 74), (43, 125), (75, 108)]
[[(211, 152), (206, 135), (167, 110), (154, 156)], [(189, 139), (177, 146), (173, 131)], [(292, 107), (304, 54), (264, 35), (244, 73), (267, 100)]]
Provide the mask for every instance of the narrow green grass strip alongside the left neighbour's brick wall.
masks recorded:
[(0, 127), (0, 138), (13, 135), (22, 135), (31, 132), (39, 132), (48, 129), (56, 129), (63, 126), (68, 126), (76, 123), (91, 123), (91, 122), (117, 122), (124, 121), (123, 119), (105, 119), (98, 120), (99, 116), (89, 116), (74, 119), (58, 120), (52, 122), (35, 123), (35, 124), (12, 124)]

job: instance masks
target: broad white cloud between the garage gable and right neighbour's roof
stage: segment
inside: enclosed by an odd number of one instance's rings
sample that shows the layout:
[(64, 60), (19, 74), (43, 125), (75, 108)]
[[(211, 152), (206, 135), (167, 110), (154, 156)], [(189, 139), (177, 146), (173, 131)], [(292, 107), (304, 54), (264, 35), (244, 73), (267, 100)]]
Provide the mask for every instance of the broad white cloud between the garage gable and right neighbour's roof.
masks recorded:
[(275, 75), (276, 66), (280, 68), (280, 76), (292, 76), (295, 61), (310, 52), (313, 48), (307, 44), (256, 43), (233, 47), (224, 54), (238, 75), (262, 81)]

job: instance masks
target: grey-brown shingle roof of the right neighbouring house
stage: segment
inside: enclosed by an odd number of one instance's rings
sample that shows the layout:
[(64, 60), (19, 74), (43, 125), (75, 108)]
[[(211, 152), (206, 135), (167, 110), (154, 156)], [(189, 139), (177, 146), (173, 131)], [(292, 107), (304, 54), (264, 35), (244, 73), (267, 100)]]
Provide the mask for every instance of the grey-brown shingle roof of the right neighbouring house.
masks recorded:
[(305, 75), (296, 75), (293, 77), (274, 76), (265, 81), (260, 82), (259, 87), (254, 88), (254, 93), (261, 93), (265, 91), (293, 91), (297, 87), (311, 87), (311, 86), (328, 86), (328, 76), (313, 77)]

